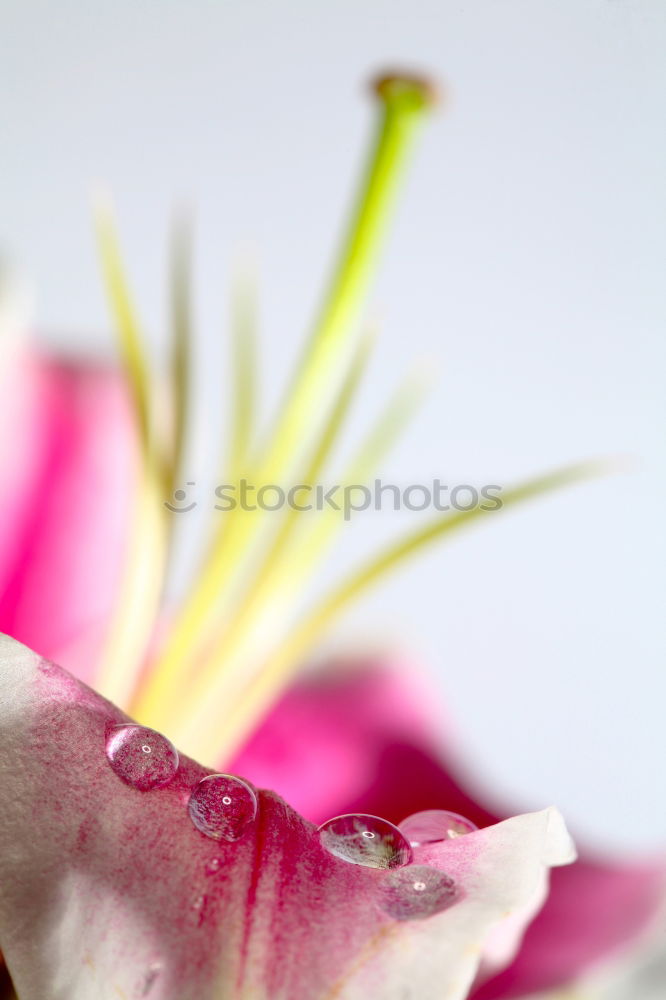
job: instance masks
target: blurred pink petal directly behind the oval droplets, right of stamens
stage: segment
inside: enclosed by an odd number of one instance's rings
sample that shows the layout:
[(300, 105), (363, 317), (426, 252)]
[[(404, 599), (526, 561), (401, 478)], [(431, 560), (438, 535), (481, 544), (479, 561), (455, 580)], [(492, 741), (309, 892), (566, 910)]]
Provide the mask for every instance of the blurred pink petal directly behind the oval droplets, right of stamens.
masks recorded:
[[(438, 723), (425, 680), (404, 664), (334, 665), (284, 695), (233, 762), (255, 783), (276, 788), (308, 819), (375, 811), (394, 822), (432, 808), (477, 826), (496, 817), (443, 770)], [(322, 775), (326, 780), (322, 781)], [(360, 803), (371, 810), (357, 810)], [(446, 804), (448, 803), (448, 804)]]

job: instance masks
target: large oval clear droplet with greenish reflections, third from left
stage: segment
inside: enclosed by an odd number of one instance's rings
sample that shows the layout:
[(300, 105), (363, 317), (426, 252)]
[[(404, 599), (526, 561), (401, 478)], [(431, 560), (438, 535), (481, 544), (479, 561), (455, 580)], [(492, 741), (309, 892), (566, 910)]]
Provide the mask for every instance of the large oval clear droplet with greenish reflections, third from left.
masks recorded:
[(379, 816), (335, 816), (318, 830), (322, 847), (336, 858), (366, 868), (399, 868), (412, 860), (409, 842), (397, 826)]

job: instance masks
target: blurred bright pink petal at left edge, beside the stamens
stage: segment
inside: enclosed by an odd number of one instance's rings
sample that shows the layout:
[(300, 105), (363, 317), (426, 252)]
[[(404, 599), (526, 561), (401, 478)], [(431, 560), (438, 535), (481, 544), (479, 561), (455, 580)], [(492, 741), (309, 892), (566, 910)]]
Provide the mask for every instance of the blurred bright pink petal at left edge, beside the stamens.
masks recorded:
[(118, 596), (136, 478), (111, 368), (22, 357), (0, 438), (0, 629), (89, 679)]

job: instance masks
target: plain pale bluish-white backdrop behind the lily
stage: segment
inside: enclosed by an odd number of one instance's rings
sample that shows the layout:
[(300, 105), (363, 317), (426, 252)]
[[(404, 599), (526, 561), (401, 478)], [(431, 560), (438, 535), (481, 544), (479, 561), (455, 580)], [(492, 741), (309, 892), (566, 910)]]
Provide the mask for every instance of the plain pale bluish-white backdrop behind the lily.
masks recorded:
[[(360, 164), (364, 81), (397, 63), (446, 84), (372, 296), (358, 420), (415, 355), (440, 371), (384, 478), (634, 461), (433, 551), (339, 636), (389, 633), (427, 664), (497, 794), (556, 802), (609, 846), (663, 844), (661, 0), (2, 0), (0, 21), (0, 239), (38, 327), (109, 349), (103, 179), (157, 344), (168, 214), (189, 197), (212, 430), (234, 250), (261, 263), (268, 405)], [(359, 517), (331, 575), (408, 524)]]

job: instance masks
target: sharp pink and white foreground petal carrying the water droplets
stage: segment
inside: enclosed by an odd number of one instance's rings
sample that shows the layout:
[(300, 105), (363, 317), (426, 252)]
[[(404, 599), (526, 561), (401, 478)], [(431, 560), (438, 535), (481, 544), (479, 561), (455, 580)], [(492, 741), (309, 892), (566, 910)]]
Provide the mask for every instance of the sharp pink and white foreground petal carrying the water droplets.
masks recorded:
[(141, 792), (106, 759), (117, 709), (7, 638), (0, 678), (0, 948), (21, 1000), (461, 1000), (493, 928), (571, 859), (554, 810), (508, 820), (432, 850), (461, 897), (399, 921), (387, 872), (329, 854), (273, 793), (242, 839), (212, 840), (187, 810), (203, 768)]

